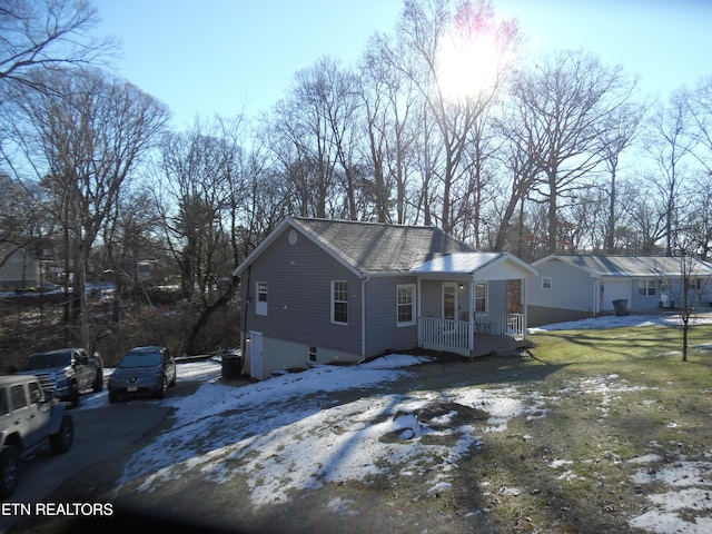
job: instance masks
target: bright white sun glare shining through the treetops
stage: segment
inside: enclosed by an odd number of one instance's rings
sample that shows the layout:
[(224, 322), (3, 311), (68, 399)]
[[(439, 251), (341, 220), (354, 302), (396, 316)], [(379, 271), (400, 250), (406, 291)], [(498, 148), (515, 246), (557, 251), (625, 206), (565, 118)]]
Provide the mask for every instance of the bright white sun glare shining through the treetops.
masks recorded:
[(447, 40), (437, 61), (439, 89), (448, 99), (477, 97), (495, 85), (501, 63), (502, 57), (491, 36)]

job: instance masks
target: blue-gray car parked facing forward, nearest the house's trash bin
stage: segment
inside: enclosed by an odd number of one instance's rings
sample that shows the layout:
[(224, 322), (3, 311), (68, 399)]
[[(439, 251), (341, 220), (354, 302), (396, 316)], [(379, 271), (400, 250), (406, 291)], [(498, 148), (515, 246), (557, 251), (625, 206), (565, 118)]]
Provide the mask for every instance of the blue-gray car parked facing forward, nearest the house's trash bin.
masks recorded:
[(136, 347), (126, 353), (107, 380), (109, 402), (129, 396), (165, 398), (176, 385), (176, 360), (166, 347)]

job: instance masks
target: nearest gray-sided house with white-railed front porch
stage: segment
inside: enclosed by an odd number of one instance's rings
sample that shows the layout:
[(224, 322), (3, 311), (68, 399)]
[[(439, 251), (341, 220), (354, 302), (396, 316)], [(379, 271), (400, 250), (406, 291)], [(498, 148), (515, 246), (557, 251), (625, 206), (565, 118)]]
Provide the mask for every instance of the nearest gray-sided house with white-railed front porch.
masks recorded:
[(534, 273), (434, 227), (287, 217), (234, 273), (243, 372), (264, 379), (416, 347), (473, 357), (515, 346)]

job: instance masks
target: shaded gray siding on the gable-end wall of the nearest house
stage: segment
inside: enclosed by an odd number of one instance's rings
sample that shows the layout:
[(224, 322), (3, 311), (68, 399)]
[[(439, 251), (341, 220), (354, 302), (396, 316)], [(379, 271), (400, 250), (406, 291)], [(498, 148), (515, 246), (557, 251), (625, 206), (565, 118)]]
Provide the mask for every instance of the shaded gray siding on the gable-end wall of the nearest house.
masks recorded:
[[(243, 274), (244, 296), (251, 296), (246, 332), (359, 354), (362, 280), (304, 236), (290, 245), (287, 235), (278, 236)], [(332, 324), (332, 280), (348, 283), (348, 325)], [(257, 281), (268, 285), (267, 316), (255, 313)]]

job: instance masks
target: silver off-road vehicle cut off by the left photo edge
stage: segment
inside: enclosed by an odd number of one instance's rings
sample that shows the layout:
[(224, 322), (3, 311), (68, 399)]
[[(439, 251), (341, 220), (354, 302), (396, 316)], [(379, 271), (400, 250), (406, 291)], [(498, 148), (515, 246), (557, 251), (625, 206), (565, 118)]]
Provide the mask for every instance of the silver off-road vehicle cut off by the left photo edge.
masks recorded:
[(55, 454), (71, 448), (75, 422), (66, 407), (36, 376), (0, 376), (0, 498), (14, 493), (21, 458), (47, 445)]

